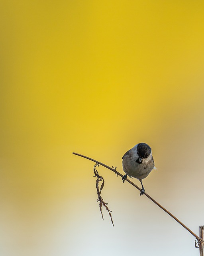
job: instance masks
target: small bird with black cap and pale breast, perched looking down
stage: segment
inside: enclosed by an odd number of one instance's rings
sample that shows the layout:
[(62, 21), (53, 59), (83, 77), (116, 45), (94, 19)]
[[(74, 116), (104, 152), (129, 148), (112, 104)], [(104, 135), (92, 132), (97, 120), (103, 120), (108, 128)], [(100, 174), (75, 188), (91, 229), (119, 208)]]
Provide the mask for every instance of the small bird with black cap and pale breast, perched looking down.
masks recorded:
[(146, 143), (139, 143), (135, 145), (133, 148), (128, 150), (126, 154), (124, 154), (122, 161), (123, 170), (126, 173), (122, 177), (122, 181), (126, 181), (127, 175), (130, 178), (134, 177), (138, 179), (142, 185), (140, 196), (143, 195), (145, 193), (145, 189), (143, 187), (142, 180), (155, 168), (150, 146)]

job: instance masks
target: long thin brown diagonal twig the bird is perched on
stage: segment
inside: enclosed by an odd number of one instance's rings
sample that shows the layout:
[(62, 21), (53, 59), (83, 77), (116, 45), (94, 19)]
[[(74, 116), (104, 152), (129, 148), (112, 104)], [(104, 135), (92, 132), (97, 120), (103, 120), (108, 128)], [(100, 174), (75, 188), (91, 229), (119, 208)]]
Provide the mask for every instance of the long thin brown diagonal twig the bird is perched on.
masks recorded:
[[(103, 164), (101, 162), (98, 162), (88, 156), (84, 156), (84, 155), (81, 155), (81, 154), (78, 154), (78, 153), (75, 153), (73, 152), (74, 155), (77, 155), (77, 156), (81, 156), (83, 158), (86, 158), (88, 160), (91, 160), (97, 164), (100, 164), (106, 168), (108, 168), (109, 170), (111, 170), (112, 172), (115, 172), (117, 174), (117, 176), (119, 175), (120, 177), (123, 177), (123, 175), (116, 171), (116, 168), (111, 168), (110, 166), (106, 165), (106, 164)], [(133, 182), (131, 182), (131, 180), (129, 179), (126, 179), (127, 182), (129, 182), (132, 186), (134, 186), (135, 188), (137, 188), (139, 191), (141, 191), (141, 188), (139, 188), (136, 184), (134, 184)], [(154, 202), (155, 204), (157, 204), (157, 206), (159, 206), (162, 210), (164, 210), (167, 214), (169, 214), (173, 219), (175, 219), (177, 222), (179, 222), (179, 224), (181, 226), (183, 226), (186, 230), (188, 230), (188, 232), (190, 232), (190, 234), (192, 234), (198, 241), (201, 240), (201, 238), (199, 236), (197, 236), (194, 232), (192, 232), (188, 227), (186, 227), (186, 225), (184, 225), (179, 219), (177, 219), (173, 214), (171, 214), (171, 212), (169, 212), (167, 209), (165, 209), (161, 204), (159, 204), (157, 201), (155, 201), (151, 196), (149, 196), (146, 192), (144, 193), (145, 196), (147, 196), (152, 202)]]

